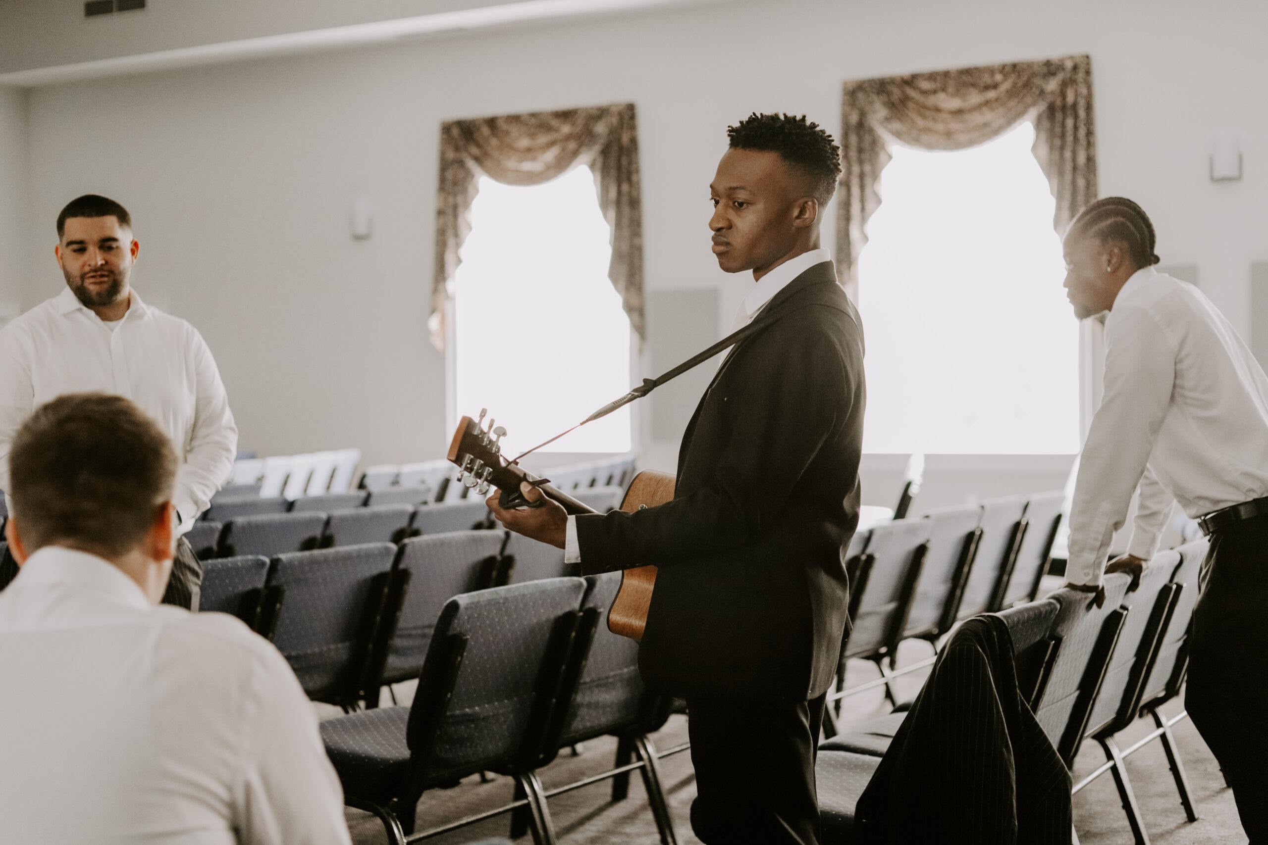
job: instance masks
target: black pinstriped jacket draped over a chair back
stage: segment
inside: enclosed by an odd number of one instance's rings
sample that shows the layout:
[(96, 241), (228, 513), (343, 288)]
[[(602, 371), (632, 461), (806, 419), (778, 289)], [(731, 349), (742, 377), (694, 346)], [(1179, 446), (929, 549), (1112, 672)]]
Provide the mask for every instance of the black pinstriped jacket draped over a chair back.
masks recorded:
[(965, 622), (855, 808), (865, 845), (1064, 845), (1070, 773), (1017, 692), (998, 616)]

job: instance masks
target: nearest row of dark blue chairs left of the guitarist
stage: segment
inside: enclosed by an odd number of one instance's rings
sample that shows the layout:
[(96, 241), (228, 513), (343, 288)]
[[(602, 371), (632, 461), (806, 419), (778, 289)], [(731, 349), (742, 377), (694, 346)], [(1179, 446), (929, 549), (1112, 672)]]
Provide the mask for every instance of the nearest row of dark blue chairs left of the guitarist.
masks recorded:
[[(208, 562), (204, 611), (235, 613), (274, 641), (314, 701), (354, 711), (323, 722), (345, 801), (374, 812), (389, 840), (415, 827), (425, 789), (479, 772), (514, 775), (512, 835), (554, 842), (548, 799), (614, 779), (614, 799), (639, 770), (661, 829), (675, 842), (647, 734), (671, 702), (647, 694), (638, 646), (601, 625), (620, 574), (535, 578), (517, 546), (470, 531)], [(378, 708), (383, 684), (418, 678), (412, 707)], [(535, 770), (559, 747), (616, 735), (611, 770), (547, 791)], [(631, 761), (631, 756), (637, 760)]]

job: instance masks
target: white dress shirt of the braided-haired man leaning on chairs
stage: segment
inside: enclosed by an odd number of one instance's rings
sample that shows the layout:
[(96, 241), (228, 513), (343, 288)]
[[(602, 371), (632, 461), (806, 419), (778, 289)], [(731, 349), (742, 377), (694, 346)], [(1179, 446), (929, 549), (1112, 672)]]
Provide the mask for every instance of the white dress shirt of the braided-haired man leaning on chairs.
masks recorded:
[(1193, 285), (1146, 267), (1106, 319), (1104, 395), (1070, 508), (1066, 578), (1099, 583), (1140, 484), (1127, 551), (1153, 557), (1174, 497), (1189, 517), (1268, 495), (1268, 378)]

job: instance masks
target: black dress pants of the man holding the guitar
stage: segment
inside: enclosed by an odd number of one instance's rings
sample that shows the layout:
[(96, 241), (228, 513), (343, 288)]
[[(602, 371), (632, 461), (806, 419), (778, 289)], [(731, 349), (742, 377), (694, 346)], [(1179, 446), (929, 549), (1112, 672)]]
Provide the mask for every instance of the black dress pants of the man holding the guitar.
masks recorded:
[(691, 829), (705, 845), (818, 845), (814, 758), (824, 697), (687, 699), (696, 799)]

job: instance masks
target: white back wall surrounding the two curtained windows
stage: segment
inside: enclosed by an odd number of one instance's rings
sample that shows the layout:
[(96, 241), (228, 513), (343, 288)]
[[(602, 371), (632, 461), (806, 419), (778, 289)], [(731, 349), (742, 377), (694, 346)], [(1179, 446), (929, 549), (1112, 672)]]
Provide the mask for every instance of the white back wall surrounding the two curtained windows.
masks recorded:
[[(437, 456), (444, 366), (424, 323), (441, 120), (634, 101), (647, 284), (716, 286), (729, 324), (748, 283), (713, 261), (705, 194), (728, 123), (785, 110), (836, 130), (846, 79), (1088, 52), (1102, 194), (1139, 200), (1164, 262), (1198, 265), (1245, 331), (1249, 262), (1268, 258), (1265, 24), (1249, 0), (772, 0), (37, 89), (24, 302), (61, 284), (37, 261), (57, 210), (105, 193), (136, 218), (138, 290), (207, 336), (243, 447)], [(1210, 136), (1229, 127), (1245, 179), (1211, 184)], [(368, 242), (347, 233), (355, 196), (375, 206)], [(507, 378), (533, 378), (508, 357)]]

